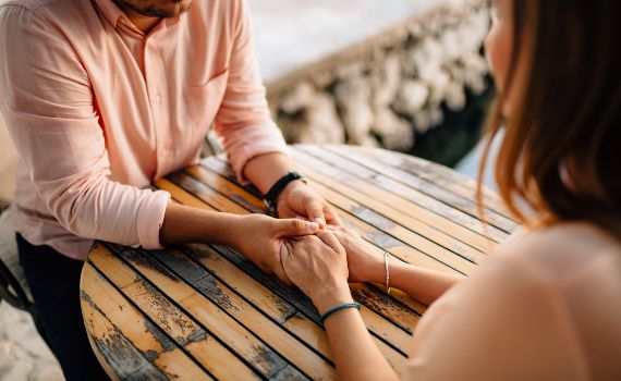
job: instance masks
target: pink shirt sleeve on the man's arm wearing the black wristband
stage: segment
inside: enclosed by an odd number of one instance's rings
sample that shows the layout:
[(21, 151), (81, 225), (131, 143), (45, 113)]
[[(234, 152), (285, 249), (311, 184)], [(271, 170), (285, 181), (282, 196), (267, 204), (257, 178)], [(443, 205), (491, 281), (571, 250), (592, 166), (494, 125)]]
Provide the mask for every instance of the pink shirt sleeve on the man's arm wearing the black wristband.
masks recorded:
[(232, 3), (235, 30), (230, 75), (215, 127), (238, 179), (247, 183), (243, 172), (249, 160), (265, 153), (288, 152), (282, 133), (269, 112), (254, 53), (249, 9), (245, 0)]

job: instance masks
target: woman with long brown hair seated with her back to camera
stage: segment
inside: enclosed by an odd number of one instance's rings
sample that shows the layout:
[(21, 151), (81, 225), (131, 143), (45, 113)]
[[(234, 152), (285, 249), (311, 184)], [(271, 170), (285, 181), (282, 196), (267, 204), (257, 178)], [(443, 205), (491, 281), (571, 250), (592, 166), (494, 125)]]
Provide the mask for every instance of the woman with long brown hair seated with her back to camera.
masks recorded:
[(621, 380), (621, 4), (492, 8), (488, 139), (504, 126), (496, 179), (524, 228), (470, 279), (385, 261), (343, 228), (290, 241), (284, 271), (321, 314), (342, 379), (398, 378), (348, 286), (388, 282), (389, 267), (391, 286), (431, 304), (404, 379)]

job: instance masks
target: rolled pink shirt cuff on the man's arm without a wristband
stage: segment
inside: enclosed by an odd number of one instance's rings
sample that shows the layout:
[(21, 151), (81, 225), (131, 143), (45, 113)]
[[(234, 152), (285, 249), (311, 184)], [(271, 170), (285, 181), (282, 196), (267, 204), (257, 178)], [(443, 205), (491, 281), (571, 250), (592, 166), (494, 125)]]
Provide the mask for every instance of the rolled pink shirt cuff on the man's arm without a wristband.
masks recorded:
[(168, 192), (156, 190), (142, 202), (138, 210), (138, 239), (143, 248), (147, 250), (162, 248), (159, 242), (159, 231), (163, 224), (169, 201), (170, 194)]

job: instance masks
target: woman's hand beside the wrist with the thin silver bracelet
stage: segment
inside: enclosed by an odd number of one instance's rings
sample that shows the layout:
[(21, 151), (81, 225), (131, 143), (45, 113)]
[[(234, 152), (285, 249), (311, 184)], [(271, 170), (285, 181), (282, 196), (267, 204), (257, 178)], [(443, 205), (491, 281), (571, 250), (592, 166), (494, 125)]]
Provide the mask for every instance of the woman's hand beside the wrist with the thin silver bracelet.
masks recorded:
[(343, 226), (328, 225), (348, 254), (350, 282), (383, 282), (386, 265), (382, 254), (364, 241), (354, 230)]

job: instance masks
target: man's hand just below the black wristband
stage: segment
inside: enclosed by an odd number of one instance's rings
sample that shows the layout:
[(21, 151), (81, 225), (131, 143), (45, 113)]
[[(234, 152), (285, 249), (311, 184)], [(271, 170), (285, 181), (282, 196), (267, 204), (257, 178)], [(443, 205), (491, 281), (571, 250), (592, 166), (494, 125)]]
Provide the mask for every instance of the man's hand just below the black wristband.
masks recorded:
[(310, 185), (302, 181), (291, 182), (277, 200), (280, 218), (302, 218), (317, 222), (319, 228), (326, 224), (341, 225), (334, 209)]

